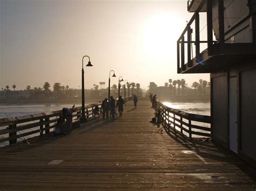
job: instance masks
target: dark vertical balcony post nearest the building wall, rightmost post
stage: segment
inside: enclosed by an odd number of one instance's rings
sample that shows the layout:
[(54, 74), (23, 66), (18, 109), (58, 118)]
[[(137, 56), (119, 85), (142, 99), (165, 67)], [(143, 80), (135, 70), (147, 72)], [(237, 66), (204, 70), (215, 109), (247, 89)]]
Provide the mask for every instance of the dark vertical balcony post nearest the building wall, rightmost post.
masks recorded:
[(219, 44), (224, 45), (225, 43), (225, 32), (224, 32), (224, 0), (218, 1), (218, 18), (219, 18)]

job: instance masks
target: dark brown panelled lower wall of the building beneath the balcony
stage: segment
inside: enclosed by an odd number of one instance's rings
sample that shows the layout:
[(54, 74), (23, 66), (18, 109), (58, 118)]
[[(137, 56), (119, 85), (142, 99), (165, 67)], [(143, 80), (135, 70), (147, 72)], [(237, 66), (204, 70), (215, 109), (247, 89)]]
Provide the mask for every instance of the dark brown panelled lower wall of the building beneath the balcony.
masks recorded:
[[(226, 72), (211, 74), (211, 116), (213, 143), (230, 148), (231, 105), (230, 79), (236, 77), (237, 102), (237, 153), (256, 166), (256, 62), (234, 65)], [(235, 85), (234, 85), (235, 84)], [(233, 111), (233, 109), (232, 109)], [(231, 132), (230, 132), (231, 130)]]

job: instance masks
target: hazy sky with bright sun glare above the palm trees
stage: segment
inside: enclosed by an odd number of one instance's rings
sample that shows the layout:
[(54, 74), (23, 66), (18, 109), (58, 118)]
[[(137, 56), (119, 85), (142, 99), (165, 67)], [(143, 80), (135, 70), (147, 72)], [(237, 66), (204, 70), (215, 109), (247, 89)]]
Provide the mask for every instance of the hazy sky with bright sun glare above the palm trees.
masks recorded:
[(186, 9), (186, 0), (0, 0), (0, 88), (46, 81), (78, 88), (83, 55), (93, 65), (85, 67), (85, 88), (107, 86), (111, 69), (145, 89), (170, 78), (189, 86), (209, 80), (177, 74), (176, 41), (192, 17)]

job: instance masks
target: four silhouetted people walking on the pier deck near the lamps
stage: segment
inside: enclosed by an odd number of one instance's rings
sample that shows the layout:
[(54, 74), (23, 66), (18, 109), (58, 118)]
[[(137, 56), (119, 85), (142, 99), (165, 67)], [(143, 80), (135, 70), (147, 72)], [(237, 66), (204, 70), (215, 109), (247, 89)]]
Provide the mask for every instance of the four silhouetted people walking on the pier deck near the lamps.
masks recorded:
[[(138, 98), (136, 95), (133, 97), (134, 107), (137, 107)], [(123, 115), (124, 111), (124, 105), (125, 101), (122, 98), (122, 96), (119, 96), (117, 102), (114, 100), (113, 96), (110, 97), (110, 101), (105, 98), (102, 102), (102, 113), (103, 113), (103, 119), (109, 117), (109, 111), (110, 115), (112, 116), (112, 119), (116, 116), (116, 108), (118, 108), (119, 116)]]

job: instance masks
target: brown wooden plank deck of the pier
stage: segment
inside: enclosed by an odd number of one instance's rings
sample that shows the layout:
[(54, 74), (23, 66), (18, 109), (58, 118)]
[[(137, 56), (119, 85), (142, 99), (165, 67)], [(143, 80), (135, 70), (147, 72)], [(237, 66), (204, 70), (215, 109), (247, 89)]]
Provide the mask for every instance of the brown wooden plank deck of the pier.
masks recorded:
[(150, 102), (122, 117), (1, 148), (0, 190), (255, 190), (256, 170), (211, 143), (157, 133)]

